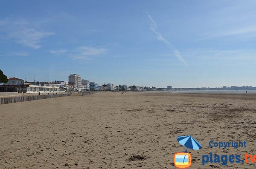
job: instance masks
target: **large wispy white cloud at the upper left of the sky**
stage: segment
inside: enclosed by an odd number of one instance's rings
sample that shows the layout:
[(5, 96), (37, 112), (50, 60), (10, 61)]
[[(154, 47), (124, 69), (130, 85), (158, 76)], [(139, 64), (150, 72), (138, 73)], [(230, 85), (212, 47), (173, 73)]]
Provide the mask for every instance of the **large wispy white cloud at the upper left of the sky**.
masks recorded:
[(7, 18), (0, 21), (0, 24), (2, 25), (0, 31), (6, 34), (6, 38), (13, 39), (16, 43), (34, 49), (41, 48), (41, 41), (54, 34), (53, 32), (32, 28), (26, 20)]

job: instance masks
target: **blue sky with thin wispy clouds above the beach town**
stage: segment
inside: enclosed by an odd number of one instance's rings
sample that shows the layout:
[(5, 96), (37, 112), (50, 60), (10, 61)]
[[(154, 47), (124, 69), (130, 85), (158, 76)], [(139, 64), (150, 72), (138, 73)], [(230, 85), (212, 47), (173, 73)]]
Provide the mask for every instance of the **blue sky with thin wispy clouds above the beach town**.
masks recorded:
[(33, 81), (256, 86), (256, 1), (1, 1), (0, 69)]

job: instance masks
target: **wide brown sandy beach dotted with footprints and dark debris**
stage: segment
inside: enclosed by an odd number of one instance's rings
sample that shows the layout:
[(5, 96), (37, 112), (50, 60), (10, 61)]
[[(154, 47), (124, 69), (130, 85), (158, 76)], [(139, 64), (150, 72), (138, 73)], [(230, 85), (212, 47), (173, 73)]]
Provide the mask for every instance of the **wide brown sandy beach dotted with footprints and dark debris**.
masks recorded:
[[(192, 135), (192, 169), (255, 169), (206, 163), (202, 155), (256, 154), (256, 95), (101, 92), (0, 105), (0, 168), (171, 169)], [(247, 147), (210, 148), (242, 140)], [(140, 155), (145, 160), (130, 158)]]

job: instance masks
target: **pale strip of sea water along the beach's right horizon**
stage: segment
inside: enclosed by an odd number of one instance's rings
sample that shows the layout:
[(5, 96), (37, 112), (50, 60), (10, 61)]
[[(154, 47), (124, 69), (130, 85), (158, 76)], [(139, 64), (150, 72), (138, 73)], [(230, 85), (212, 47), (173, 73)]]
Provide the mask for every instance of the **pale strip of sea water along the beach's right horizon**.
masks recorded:
[(218, 93), (227, 93), (227, 94), (255, 94), (256, 90), (179, 90), (179, 91), (166, 91), (171, 93), (204, 93), (204, 94), (218, 94)]

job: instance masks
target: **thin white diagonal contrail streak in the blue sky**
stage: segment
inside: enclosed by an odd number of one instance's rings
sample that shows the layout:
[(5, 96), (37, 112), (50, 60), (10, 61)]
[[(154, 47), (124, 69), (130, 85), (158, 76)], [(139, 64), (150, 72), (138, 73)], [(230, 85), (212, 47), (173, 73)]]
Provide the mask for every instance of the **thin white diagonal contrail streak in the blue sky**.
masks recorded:
[(152, 32), (154, 32), (155, 34), (157, 34), (157, 39), (163, 41), (166, 44), (166, 46), (168, 46), (170, 49), (172, 49), (172, 52), (175, 54), (175, 56), (178, 58), (178, 60), (180, 60), (185, 65), (188, 65), (188, 63), (186, 63), (186, 60), (183, 59), (183, 57), (180, 55), (180, 52), (177, 49), (175, 49), (175, 47), (172, 45), (172, 43), (170, 43), (168, 40), (163, 38), (162, 34), (157, 32), (157, 24), (155, 23), (155, 21), (152, 19), (152, 17), (149, 14), (148, 14), (148, 17), (152, 22), (152, 24), (150, 26), (150, 30)]

